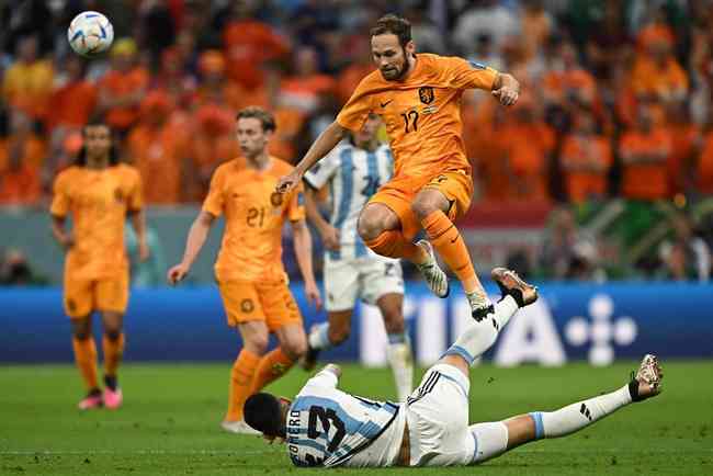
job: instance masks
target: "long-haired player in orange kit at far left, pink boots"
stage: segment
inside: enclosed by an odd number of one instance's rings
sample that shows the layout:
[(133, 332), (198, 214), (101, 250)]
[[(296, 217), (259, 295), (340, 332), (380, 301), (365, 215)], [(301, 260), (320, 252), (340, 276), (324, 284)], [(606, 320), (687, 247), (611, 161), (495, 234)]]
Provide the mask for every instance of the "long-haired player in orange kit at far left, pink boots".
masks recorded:
[[(73, 167), (55, 179), (52, 231), (67, 250), (65, 311), (71, 318), (75, 360), (88, 394), (82, 410), (118, 408), (123, 400), (116, 371), (124, 350), (123, 315), (128, 302), (128, 260), (124, 223), (131, 216), (139, 242), (139, 257), (148, 258), (142, 180), (138, 171), (120, 165), (111, 131), (103, 123), (82, 129), (84, 145)], [(65, 220), (71, 214), (72, 229)], [(99, 311), (104, 337), (104, 392), (97, 382), (97, 347), (91, 316)]]

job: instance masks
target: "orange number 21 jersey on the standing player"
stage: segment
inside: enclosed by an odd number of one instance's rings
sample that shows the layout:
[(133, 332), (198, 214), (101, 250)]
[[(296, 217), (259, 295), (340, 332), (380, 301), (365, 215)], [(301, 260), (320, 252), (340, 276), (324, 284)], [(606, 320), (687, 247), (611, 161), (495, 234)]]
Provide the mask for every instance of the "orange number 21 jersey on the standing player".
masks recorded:
[(278, 179), (293, 167), (271, 157), (268, 170), (246, 167), (241, 159), (218, 167), (203, 211), (225, 214), (225, 233), (215, 275), (218, 282), (285, 282), (282, 225), (305, 218), (302, 185), (288, 195), (275, 192)]

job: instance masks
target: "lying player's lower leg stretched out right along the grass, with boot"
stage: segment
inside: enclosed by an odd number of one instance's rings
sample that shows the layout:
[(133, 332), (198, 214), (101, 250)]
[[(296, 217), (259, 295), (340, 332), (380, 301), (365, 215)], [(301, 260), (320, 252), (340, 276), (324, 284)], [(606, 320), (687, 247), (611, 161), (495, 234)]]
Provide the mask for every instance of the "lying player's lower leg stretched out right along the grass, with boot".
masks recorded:
[(505, 421), (473, 424), (469, 430), (476, 451), (472, 462), (484, 462), (531, 441), (579, 431), (622, 407), (655, 397), (661, 390), (663, 376), (656, 356), (647, 354), (636, 376), (618, 390), (555, 411), (534, 411)]

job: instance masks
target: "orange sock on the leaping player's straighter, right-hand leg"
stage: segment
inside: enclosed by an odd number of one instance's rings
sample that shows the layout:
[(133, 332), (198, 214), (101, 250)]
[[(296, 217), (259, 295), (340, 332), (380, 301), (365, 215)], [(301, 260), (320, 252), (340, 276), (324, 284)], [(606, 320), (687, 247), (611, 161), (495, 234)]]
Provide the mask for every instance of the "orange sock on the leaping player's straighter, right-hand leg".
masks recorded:
[(465, 293), (482, 288), (463, 237), (449, 217), (438, 209), (423, 218), (421, 225), (435, 251), (463, 284)]

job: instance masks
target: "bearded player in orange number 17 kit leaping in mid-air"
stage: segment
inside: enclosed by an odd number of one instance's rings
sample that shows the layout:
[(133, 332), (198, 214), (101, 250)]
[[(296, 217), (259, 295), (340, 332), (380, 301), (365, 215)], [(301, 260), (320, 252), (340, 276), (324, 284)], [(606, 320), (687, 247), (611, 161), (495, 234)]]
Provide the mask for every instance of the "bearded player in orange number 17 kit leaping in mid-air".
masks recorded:
[[(520, 84), (510, 75), (477, 63), (430, 54), (416, 55), (411, 26), (396, 15), (381, 18), (371, 31), (372, 57), (378, 70), (354, 90), (337, 120), (315, 140), (278, 190), (298, 185), (304, 173), (346, 135), (359, 131), (370, 113), (382, 116), (395, 157), (393, 179), (361, 213), (359, 234), (378, 254), (406, 258), (419, 268), (440, 297), (448, 277), (432, 248), (463, 283), (473, 317), (493, 311), (475, 274), (467, 247), (453, 222), (471, 206), (473, 179), (465, 155), (460, 115), (465, 89), (490, 90), (502, 105), (517, 102)], [(414, 243), (423, 228), (428, 237)], [(430, 241), (430, 242), (429, 242)]]

